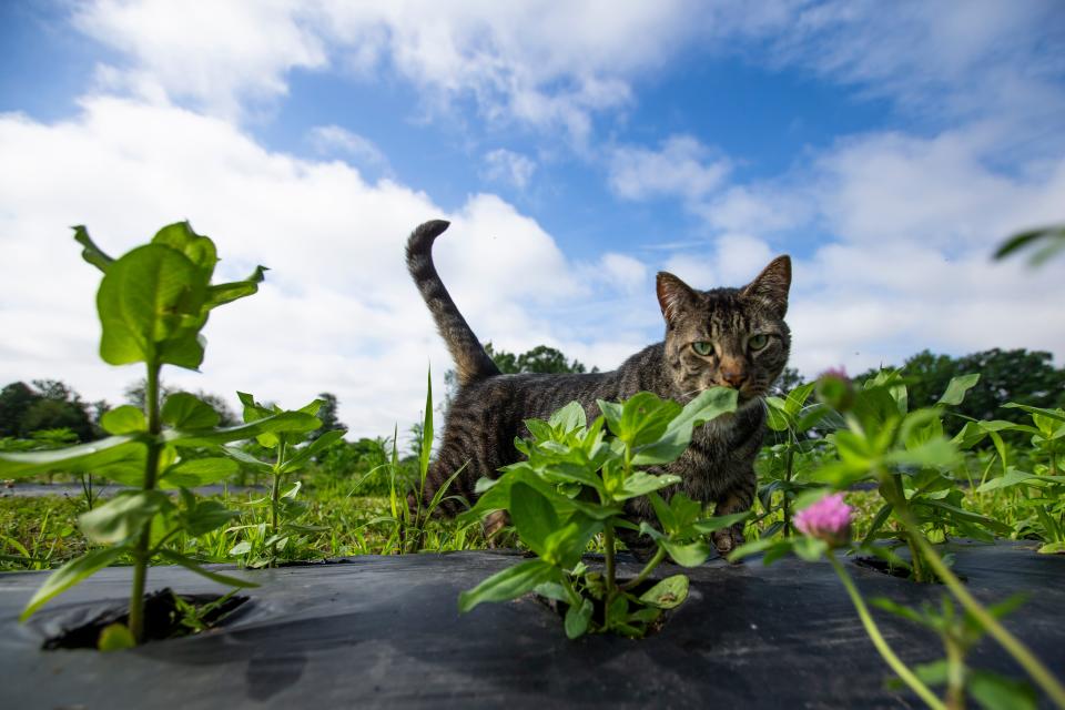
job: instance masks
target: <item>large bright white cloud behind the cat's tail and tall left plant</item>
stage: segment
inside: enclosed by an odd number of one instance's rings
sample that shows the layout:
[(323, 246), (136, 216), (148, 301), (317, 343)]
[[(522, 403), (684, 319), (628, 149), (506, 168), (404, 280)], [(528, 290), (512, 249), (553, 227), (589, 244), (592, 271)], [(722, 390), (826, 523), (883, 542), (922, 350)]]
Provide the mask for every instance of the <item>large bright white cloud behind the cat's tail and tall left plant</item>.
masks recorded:
[[(87, 398), (116, 402), (141, 376), (97, 358), (99, 273), (71, 239), (79, 223), (118, 255), (189, 217), (219, 246), (217, 278), (271, 266), (258, 294), (212, 314), (203, 373), (168, 368), (164, 377), (285, 406), (333, 392), (355, 435), (412, 422), (430, 363), (443, 392), (449, 358), (403, 258), (424, 220), (453, 222), (437, 265), (485, 339), (585, 343), (589, 357), (629, 338), (594, 325), (590, 345), (580, 317), (596, 321), (610, 294), (584, 283), (550, 235), (493, 195), (448, 214), (394, 182), (369, 185), (344, 163), (268, 152), (224, 121), (118, 99), (87, 100), (81, 114), (52, 125), (2, 115), (0, 154), (0, 361), (9, 379), (61, 377)], [(571, 311), (575, 303), (587, 311)]]

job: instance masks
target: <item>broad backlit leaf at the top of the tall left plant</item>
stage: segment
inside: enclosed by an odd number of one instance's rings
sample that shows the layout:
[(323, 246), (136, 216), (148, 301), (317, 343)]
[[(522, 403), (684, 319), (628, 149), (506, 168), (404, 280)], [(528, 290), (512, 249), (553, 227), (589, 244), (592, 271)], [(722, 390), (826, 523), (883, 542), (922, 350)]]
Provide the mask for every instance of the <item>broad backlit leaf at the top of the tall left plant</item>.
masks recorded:
[(207, 277), (183, 254), (149, 244), (111, 264), (97, 293), (100, 356), (111, 365), (169, 363), (196, 369)]

